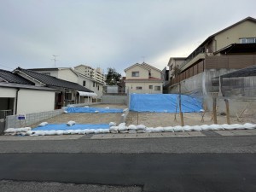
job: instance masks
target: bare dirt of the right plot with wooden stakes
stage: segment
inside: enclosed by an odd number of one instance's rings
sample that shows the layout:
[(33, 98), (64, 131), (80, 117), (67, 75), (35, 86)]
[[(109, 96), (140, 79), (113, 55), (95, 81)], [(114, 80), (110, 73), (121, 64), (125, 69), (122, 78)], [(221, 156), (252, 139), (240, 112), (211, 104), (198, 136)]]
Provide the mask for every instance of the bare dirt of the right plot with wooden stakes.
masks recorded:
[[(138, 117), (138, 118), (137, 118)], [(138, 119), (138, 120), (137, 120)], [(180, 116), (177, 113), (177, 120), (175, 120), (174, 113), (136, 113), (130, 112), (127, 119), (127, 125), (146, 125), (148, 127), (158, 126), (176, 126), (180, 124)], [(212, 119), (212, 113), (205, 113), (203, 122), (201, 121), (201, 113), (183, 113), (184, 125), (212, 125), (214, 124)], [(212, 120), (211, 120), (212, 119)], [(218, 124), (226, 124), (226, 116), (218, 115)], [(231, 124), (244, 124), (244, 123), (256, 123), (256, 119), (241, 119), (241, 122), (236, 118), (230, 118)]]

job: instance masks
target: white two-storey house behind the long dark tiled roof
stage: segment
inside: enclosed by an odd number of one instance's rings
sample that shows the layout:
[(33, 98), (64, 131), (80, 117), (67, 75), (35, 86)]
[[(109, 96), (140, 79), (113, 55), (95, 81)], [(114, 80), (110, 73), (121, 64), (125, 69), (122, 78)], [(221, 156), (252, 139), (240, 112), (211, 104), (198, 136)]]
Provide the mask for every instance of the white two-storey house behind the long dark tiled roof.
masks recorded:
[(96, 93), (96, 98), (102, 97), (103, 83), (96, 79), (91, 79), (89, 76), (79, 73), (79, 71), (75, 71), (72, 67), (32, 68), (29, 70), (80, 84), (84, 88)]

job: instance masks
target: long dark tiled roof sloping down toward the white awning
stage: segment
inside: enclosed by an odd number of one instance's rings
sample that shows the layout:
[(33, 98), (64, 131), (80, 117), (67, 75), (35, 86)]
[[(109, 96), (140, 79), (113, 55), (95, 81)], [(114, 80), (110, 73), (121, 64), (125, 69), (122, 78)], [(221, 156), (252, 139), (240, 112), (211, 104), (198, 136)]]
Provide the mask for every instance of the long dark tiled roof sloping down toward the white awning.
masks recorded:
[(55, 77), (42, 74), (42, 73), (36, 73), (31, 70), (26, 70), (23, 68), (16, 68), (15, 71), (20, 71), (21, 73), (26, 73), (26, 75), (32, 77), (33, 79), (37, 79), (39, 82), (46, 84), (48, 87), (54, 87), (55, 89), (61, 88), (61, 89), (68, 89), (68, 90), (81, 90), (81, 91), (86, 91), (86, 92), (93, 92), (80, 84), (76, 84), (70, 81), (62, 80), (62, 79), (57, 79)]

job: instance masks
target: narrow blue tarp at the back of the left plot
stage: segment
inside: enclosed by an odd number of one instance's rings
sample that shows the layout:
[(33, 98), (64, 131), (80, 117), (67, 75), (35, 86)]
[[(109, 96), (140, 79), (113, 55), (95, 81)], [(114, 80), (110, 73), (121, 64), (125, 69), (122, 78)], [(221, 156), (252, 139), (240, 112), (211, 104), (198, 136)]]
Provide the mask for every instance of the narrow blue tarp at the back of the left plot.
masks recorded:
[(122, 108), (67, 108), (67, 113), (123, 113)]

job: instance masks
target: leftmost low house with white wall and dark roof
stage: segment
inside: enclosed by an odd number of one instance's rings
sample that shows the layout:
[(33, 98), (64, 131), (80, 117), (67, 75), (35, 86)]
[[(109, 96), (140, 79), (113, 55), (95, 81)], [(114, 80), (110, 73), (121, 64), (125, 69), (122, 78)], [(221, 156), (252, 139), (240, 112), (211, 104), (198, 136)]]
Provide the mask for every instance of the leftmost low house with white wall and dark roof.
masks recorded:
[(55, 91), (0, 69), (0, 119), (13, 114), (54, 110)]

